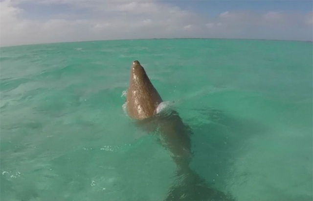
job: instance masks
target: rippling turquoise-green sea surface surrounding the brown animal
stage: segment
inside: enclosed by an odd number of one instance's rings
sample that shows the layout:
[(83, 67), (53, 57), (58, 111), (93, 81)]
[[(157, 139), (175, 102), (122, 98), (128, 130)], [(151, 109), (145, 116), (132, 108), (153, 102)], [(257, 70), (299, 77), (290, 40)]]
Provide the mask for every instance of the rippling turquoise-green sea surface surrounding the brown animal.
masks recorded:
[(312, 42), (151, 39), (0, 49), (1, 201), (161, 201), (177, 167), (123, 111), (138, 60), (238, 201), (313, 199)]

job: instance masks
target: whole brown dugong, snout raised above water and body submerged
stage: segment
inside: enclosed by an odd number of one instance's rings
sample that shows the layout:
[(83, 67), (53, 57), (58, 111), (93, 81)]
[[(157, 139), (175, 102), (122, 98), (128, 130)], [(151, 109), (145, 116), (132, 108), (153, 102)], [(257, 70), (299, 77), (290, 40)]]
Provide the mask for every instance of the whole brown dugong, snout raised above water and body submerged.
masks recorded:
[(156, 108), (162, 101), (144, 68), (135, 60), (126, 95), (127, 113), (148, 131), (158, 130), (162, 145), (171, 151), (178, 166), (177, 176), (184, 178), (183, 184), (170, 188), (166, 200), (233, 201), (223, 192), (207, 186), (204, 179), (189, 168), (192, 131), (175, 110), (157, 114)]

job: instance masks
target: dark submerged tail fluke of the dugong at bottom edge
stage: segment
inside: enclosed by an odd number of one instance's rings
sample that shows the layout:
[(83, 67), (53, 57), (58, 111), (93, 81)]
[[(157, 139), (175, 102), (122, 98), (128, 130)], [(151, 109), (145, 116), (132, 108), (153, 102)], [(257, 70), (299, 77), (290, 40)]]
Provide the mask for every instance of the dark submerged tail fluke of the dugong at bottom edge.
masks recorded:
[(209, 187), (190, 168), (177, 173), (178, 183), (169, 189), (165, 201), (235, 201), (230, 195)]

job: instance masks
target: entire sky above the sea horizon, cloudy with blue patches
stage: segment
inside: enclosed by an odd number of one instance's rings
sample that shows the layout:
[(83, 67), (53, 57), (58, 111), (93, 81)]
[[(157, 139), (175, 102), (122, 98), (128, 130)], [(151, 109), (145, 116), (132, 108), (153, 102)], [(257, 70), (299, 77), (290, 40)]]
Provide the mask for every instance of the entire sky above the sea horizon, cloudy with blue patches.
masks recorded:
[(313, 40), (312, 0), (0, 0), (0, 46), (146, 38)]

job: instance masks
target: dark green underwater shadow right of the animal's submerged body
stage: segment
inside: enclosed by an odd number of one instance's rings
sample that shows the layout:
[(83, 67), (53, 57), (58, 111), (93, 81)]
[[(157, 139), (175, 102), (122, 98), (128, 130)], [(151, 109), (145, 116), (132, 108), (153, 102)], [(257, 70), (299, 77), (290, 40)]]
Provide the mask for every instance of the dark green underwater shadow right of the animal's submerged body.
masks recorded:
[(194, 157), (190, 167), (211, 187), (227, 192), (233, 163), (249, 150), (250, 139), (264, 135), (268, 128), (220, 109), (202, 108), (193, 109), (193, 112), (197, 113), (195, 118), (185, 118), (185, 123), (193, 131)]

